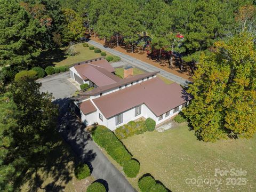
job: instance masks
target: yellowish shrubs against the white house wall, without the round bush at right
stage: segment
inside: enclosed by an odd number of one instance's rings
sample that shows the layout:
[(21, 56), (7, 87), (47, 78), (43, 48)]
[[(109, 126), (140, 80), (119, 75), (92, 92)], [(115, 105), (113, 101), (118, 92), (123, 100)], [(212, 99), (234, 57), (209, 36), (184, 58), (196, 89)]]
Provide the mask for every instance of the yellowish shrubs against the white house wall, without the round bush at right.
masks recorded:
[(125, 139), (131, 137), (134, 134), (142, 134), (147, 131), (145, 122), (143, 121), (130, 121), (129, 123), (117, 127), (115, 130), (115, 135), (118, 139)]

